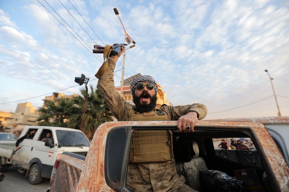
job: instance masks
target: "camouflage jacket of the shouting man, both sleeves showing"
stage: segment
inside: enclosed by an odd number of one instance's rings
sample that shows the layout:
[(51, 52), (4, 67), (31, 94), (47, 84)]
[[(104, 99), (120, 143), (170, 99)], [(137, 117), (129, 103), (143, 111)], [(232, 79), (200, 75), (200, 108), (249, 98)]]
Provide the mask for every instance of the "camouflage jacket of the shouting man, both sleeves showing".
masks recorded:
[[(115, 62), (108, 60), (106, 72), (98, 79), (97, 89), (100, 91), (106, 104), (110, 108), (113, 116), (119, 121), (130, 121), (133, 112), (132, 106), (129, 102), (123, 100), (119, 92), (115, 89), (113, 80), (113, 70)], [(163, 106), (162, 111), (169, 115), (169, 120), (178, 120), (182, 115), (190, 111), (195, 111), (198, 114), (198, 119), (204, 119), (207, 115), (207, 108), (200, 103), (184, 106)]]

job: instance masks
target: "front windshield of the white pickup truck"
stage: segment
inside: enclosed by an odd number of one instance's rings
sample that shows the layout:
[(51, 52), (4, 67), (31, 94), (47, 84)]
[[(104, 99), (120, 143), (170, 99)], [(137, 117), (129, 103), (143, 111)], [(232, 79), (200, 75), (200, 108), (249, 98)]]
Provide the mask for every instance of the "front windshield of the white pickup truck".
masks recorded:
[(82, 132), (56, 130), (58, 143), (63, 146), (89, 146), (89, 141)]

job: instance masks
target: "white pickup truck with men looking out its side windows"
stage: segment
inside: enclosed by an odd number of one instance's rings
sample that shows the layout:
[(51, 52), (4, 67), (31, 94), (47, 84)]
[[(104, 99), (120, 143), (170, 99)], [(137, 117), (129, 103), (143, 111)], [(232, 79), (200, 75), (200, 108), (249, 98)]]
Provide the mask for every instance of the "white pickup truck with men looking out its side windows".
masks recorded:
[[(64, 151), (73, 152), (83, 156), (87, 155), (90, 141), (80, 130), (50, 127), (50, 126), (27, 126), (19, 138), (35, 129), (36, 134), (32, 139), (24, 139), (20, 142), (18, 151), (14, 146), (0, 144), (0, 166), (2, 172), (13, 165), (18, 167), (19, 172), (26, 170), (30, 184), (39, 184), (43, 177), (50, 178), (54, 162)], [(47, 133), (52, 137), (41, 141)], [(16, 141), (15, 141), (16, 144)]]

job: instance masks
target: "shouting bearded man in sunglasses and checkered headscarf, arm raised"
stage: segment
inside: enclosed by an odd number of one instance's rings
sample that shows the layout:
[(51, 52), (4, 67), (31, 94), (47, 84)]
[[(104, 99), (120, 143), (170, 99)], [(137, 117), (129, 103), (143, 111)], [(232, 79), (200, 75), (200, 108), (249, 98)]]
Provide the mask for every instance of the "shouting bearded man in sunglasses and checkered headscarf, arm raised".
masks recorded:
[[(113, 116), (119, 121), (178, 120), (177, 129), (180, 132), (194, 132), (197, 120), (207, 115), (206, 106), (195, 103), (157, 108), (158, 85), (149, 75), (140, 76), (131, 83), (130, 90), (135, 105), (123, 100), (115, 89), (113, 80), (115, 63), (122, 53), (123, 48), (118, 55), (108, 59), (107, 69), (99, 77), (97, 84)], [(176, 172), (171, 131), (137, 130), (132, 133), (126, 181), (127, 186), (134, 191), (195, 191)]]

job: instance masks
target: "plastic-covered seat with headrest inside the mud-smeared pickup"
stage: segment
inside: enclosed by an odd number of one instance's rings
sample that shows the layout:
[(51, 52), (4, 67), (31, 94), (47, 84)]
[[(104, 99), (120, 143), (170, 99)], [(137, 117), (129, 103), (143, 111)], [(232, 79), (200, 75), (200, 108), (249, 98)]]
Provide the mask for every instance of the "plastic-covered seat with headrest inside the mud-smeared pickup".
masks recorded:
[(201, 191), (202, 178), (200, 171), (207, 170), (207, 165), (202, 157), (199, 157), (200, 151), (197, 142), (193, 142), (193, 150), (195, 152), (194, 157), (189, 162), (176, 163), (176, 169), (179, 175), (183, 175), (186, 178), (188, 186), (194, 190)]

